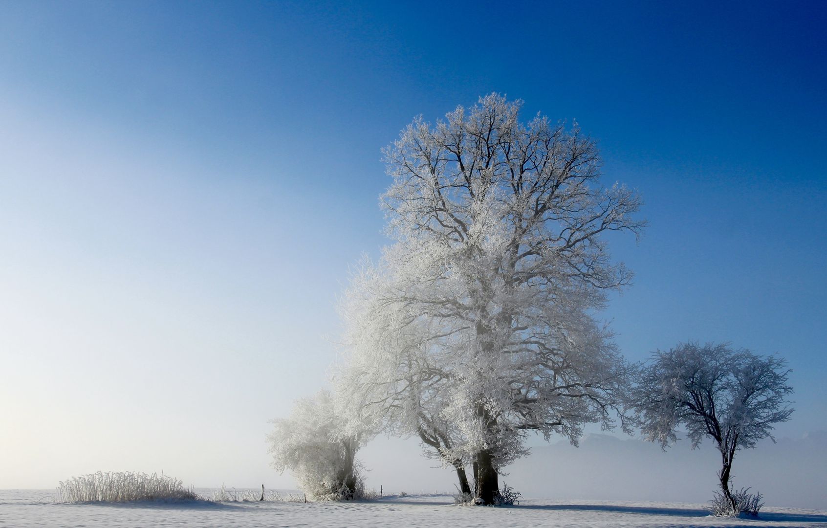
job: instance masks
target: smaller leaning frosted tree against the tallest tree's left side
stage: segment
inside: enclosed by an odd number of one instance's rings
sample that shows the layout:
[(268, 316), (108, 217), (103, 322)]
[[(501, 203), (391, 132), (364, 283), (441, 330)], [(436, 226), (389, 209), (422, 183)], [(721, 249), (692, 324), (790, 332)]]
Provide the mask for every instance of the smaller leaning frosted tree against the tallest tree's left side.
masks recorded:
[(455, 469), (460, 492), (471, 494), (466, 461), (455, 449), (459, 431), (441, 415), (447, 394), (433, 365), (439, 358), (428, 347), (426, 321), (402, 322), (399, 314), (384, 312), (378, 298), (361, 288), (380, 286), (385, 277), (369, 263), (361, 271), (342, 305), (349, 341), (356, 344), (338, 383), (349, 425), (353, 431), (416, 436), (429, 457)]

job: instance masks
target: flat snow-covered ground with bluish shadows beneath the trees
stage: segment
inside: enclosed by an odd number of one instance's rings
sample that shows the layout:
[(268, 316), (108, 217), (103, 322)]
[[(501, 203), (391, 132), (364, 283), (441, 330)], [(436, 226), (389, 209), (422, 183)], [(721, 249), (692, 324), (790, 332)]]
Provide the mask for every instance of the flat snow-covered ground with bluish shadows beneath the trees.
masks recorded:
[(0, 490), (0, 527), (138, 528), (145, 526), (823, 526), (827, 511), (768, 507), (758, 520), (710, 517), (703, 505), (669, 502), (560, 502), (454, 506), (452, 497), (384, 497), (375, 502), (188, 502), (131, 505), (55, 504), (53, 492)]

